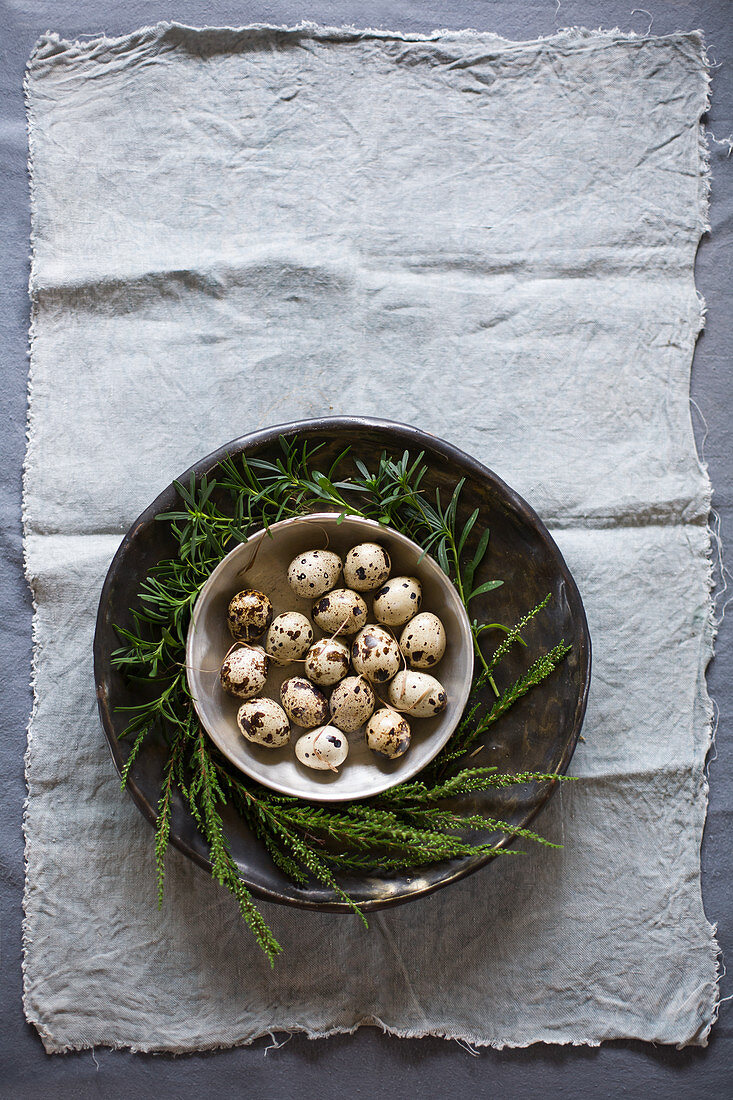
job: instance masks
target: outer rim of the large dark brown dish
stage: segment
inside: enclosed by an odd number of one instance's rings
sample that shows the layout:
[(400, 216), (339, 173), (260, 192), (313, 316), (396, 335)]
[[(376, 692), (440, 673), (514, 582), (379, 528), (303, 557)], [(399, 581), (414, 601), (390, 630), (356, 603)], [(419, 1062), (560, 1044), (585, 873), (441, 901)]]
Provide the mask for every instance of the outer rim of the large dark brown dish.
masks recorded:
[[(200, 479), (205, 474), (211, 473), (225, 459), (230, 458), (232, 454), (239, 455), (244, 452), (252, 453), (253, 451), (258, 451), (264, 447), (276, 443), (281, 436), (328, 436), (343, 430), (352, 435), (360, 431), (390, 432), (391, 436), (394, 437), (395, 447), (402, 446), (407, 449), (417, 448), (418, 450), (424, 450), (425, 447), (428, 446), (434, 453), (442, 458), (446, 462), (455, 463), (461, 469), (462, 472), (468, 472), (472, 477), (489, 482), (500, 495), (505, 497), (522, 520), (535, 528), (541, 540), (551, 550), (557, 563), (558, 572), (567, 586), (568, 598), (572, 606), (573, 616), (577, 618), (579, 632), (578, 648), (581, 658), (580, 667), (582, 670), (582, 683), (580, 685), (576, 704), (572, 728), (566, 740), (565, 749), (557, 766), (557, 773), (564, 774), (568, 770), (570, 760), (572, 759), (572, 755), (578, 745), (590, 691), (592, 646), (586, 609), (582, 604), (578, 585), (576, 584), (576, 581), (566, 564), (565, 558), (562, 557), (559, 547), (555, 542), (555, 539), (550, 535), (546, 525), (539, 518), (534, 508), (527, 504), (527, 502), (519, 496), (515, 490), (507, 485), (506, 482), (499, 476), (499, 474), (494, 473), (493, 470), (490, 470), (489, 466), (479, 462), (479, 460), (474, 459), (473, 455), (469, 454), (467, 451), (462, 451), (453, 443), (450, 443), (423, 428), (417, 428), (414, 425), (401, 424), (395, 420), (387, 420), (383, 417), (337, 415), (327, 417), (310, 417), (300, 420), (285, 421), (266, 428), (258, 428), (252, 432), (248, 432), (243, 436), (237, 437), (236, 439), (229, 440), (222, 447), (219, 447), (209, 454), (204, 455), (204, 458), (198, 459), (175, 480), (178, 482), (185, 482), (192, 475), (196, 479)], [(106, 676), (108, 669), (103, 641), (107, 626), (106, 609), (110, 603), (112, 592), (117, 583), (118, 573), (123, 566), (124, 558), (130, 543), (134, 540), (141, 528), (146, 527), (161, 512), (164, 510), (163, 501), (164, 498), (169, 497), (173, 491), (174, 484), (173, 482), (169, 482), (161, 490), (158, 495), (147, 505), (147, 507), (141, 512), (135, 521), (130, 526), (120, 542), (117, 553), (112, 558), (99, 598), (99, 608), (97, 613), (94, 638), (94, 670), (95, 682), (97, 685), (97, 703), (109, 752), (112, 758), (112, 762), (120, 774), (124, 768), (127, 757), (122, 751), (122, 743), (120, 741), (116, 730), (114, 708), (111, 705), (111, 701), (107, 692)], [(532, 813), (529, 813), (524, 820), (524, 826), (527, 826), (532, 821), (534, 821), (537, 814), (541, 812), (554, 793), (556, 785), (556, 783), (547, 784), (546, 790), (543, 791), (537, 798)], [(128, 774), (125, 790), (142, 815), (154, 828), (157, 821), (156, 804), (153, 804), (153, 802), (147, 799), (142, 788), (135, 781), (132, 771)], [(174, 844), (175, 847), (183, 853), (183, 855), (187, 856), (188, 859), (190, 859), (198, 867), (208, 872), (211, 871), (210, 859), (198, 851), (184, 836), (173, 829), (171, 831), (171, 843)], [(496, 847), (505, 847), (508, 843), (510, 838), (507, 837), (505, 840), (500, 842)], [(391, 909), (395, 905), (401, 905), (418, 898), (424, 898), (428, 894), (435, 893), (436, 890), (441, 890), (444, 887), (458, 882), (469, 875), (473, 875), (480, 868), (485, 867), (486, 864), (491, 862), (492, 859), (494, 859), (494, 854), (486, 853), (485, 856), (475, 857), (470, 860), (453, 860), (448, 866), (444, 866), (440, 877), (436, 877), (431, 881), (425, 881), (425, 879), (422, 879), (419, 884), (415, 883), (412, 889), (405, 887), (402, 892), (392, 891), (387, 897), (365, 899), (359, 903), (360, 908), (364, 912), (370, 912), (380, 909)], [(260, 898), (263, 901), (277, 902), (295, 909), (307, 909), (316, 910), (318, 912), (342, 914), (352, 912), (351, 908), (339, 899), (329, 898), (328, 900), (324, 900), (302, 894), (295, 897), (292, 893), (285, 893), (282, 890), (253, 883), (249, 880), (248, 889), (253, 897)]]

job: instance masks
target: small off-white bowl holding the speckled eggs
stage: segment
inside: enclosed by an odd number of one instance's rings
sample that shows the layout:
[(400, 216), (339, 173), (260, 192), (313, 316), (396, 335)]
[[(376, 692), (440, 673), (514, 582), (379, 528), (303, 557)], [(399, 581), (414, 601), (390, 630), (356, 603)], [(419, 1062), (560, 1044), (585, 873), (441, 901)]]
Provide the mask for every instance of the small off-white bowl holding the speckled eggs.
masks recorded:
[[(455, 730), (468, 701), (473, 674), (471, 628), (456, 587), (440, 566), (404, 535), (371, 519), (338, 513), (315, 513), (273, 524), (238, 546), (217, 565), (194, 606), (186, 644), (186, 674), (194, 706), (211, 740), (245, 774), (283, 794), (318, 802), (347, 802), (380, 794), (411, 779), (436, 756)], [(448, 638), (446, 653), (433, 674), (448, 693), (448, 706), (435, 718), (409, 718), (413, 738), (407, 752), (385, 760), (366, 748), (364, 730), (349, 734), (349, 757), (338, 774), (304, 768), (295, 758), (294, 744), (304, 732), (292, 727), (291, 744), (267, 749), (245, 740), (237, 726), (241, 700), (222, 690), (218, 669), (232, 645), (227, 627), (227, 607), (236, 592), (258, 588), (270, 597), (274, 615), (297, 610), (310, 616), (310, 601), (295, 595), (287, 583), (287, 566), (305, 550), (326, 547), (346, 557), (359, 542), (380, 542), (392, 559), (392, 575), (417, 576), (423, 585), (422, 610), (440, 617)], [(341, 582), (339, 582), (339, 585)], [(362, 593), (370, 609), (371, 594)], [(397, 628), (397, 636), (398, 630)], [(316, 638), (322, 631), (314, 627)], [(264, 641), (264, 639), (262, 639)], [(262, 695), (280, 702), (280, 685), (303, 674), (303, 664), (270, 662)], [(378, 688), (383, 698), (386, 685)], [(330, 689), (327, 689), (330, 692)], [(378, 707), (379, 707), (378, 703)]]

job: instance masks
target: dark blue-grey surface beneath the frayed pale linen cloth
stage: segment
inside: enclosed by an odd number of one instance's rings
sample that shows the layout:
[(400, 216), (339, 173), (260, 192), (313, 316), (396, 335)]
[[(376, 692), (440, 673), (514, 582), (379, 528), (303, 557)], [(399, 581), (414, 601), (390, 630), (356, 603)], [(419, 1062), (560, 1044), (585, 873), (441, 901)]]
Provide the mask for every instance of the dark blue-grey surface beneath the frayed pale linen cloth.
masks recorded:
[[(639, 1043), (612, 1043), (599, 1049), (534, 1047), (482, 1050), (471, 1057), (455, 1043), (403, 1041), (362, 1028), (353, 1036), (321, 1042), (292, 1038), (282, 1049), (267, 1043), (180, 1058), (97, 1050), (50, 1057), (21, 1009), (21, 915), (24, 798), (23, 748), (31, 706), (29, 688), (31, 606), (22, 576), (20, 525), (21, 465), (25, 432), (28, 369), (26, 297), (29, 200), (25, 172), (25, 119), (22, 78), (26, 57), (45, 30), (65, 36), (124, 33), (162, 19), (194, 24), (248, 22), (353, 23), (395, 30), (430, 31), (472, 26), (512, 38), (549, 34), (557, 26), (584, 24), (654, 33), (702, 28), (713, 62), (713, 105), (709, 123), (716, 138), (733, 135), (733, 4), (730, 0), (647, 0), (633, 11), (632, 0), (572, 2), (561, 0), (458, 0), (456, 3), (359, 0), (298, 4), (294, 0), (36, 0), (0, 2), (0, 905), (2, 968), (0, 1004), (0, 1096), (2, 1097), (216, 1097), (223, 1093), (269, 1097), (602, 1097), (733, 1096), (733, 1026), (723, 1004), (705, 1050), (677, 1052)], [(558, 10), (559, 8), (559, 10)], [(708, 326), (693, 365), (692, 397), (701, 410), (699, 446), (712, 477), (713, 504), (723, 541), (733, 537), (733, 417), (729, 358), (733, 318), (733, 156), (712, 146), (712, 234), (701, 244), (697, 285), (708, 304)], [(541, 151), (538, 151), (538, 156)], [(733, 609), (731, 610), (733, 616)], [(733, 716), (733, 632), (731, 618), (721, 626), (716, 657), (709, 670), (710, 690), (720, 710), (716, 757), (710, 766), (711, 801), (702, 850), (703, 894), (708, 916), (719, 922), (723, 952), (732, 934), (733, 857), (729, 829), (733, 812), (733, 751), (729, 730)], [(733, 982), (722, 980), (722, 994)]]

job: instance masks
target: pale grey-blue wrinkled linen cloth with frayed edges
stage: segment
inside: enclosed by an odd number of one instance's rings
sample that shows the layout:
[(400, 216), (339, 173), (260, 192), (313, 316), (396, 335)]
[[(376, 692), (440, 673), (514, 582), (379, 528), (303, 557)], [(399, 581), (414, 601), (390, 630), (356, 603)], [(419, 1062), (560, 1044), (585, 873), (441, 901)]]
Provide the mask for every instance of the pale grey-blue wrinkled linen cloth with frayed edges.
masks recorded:
[[(688, 385), (699, 33), (304, 25), (48, 34), (29, 67), (35, 601), (25, 1012), (46, 1049), (376, 1024), (704, 1044), (710, 486)], [(91, 638), (121, 535), (230, 438), (329, 411), (458, 443), (551, 527), (594, 642), (584, 741), (507, 858), (358, 919), (236, 906), (120, 793)]]

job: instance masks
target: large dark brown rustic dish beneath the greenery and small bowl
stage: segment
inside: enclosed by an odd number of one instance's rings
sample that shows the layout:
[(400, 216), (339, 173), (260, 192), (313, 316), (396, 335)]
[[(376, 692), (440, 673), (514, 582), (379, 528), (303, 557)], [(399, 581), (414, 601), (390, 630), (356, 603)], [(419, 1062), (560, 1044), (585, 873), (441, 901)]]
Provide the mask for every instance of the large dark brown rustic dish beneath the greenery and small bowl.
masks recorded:
[[(580, 594), (562, 557), (541, 520), (513, 490), (474, 459), (417, 428), (364, 417), (333, 417), (281, 425), (253, 432), (222, 447), (197, 462), (189, 473), (210, 473), (227, 455), (258, 454), (272, 458), (278, 453), (278, 437), (297, 435), (310, 442), (324, 443), (320, 457), (333, 461), (347, 444), (355, 457), (373, 465), (382, 451), (401, 454), (408, 449), (423, 451), (430, 473), (424, 485), (450, 493), (460, 477), (466, 477), (461, 494), (459, 521), (481, 509), (481, 524), (491, 528), (491, 548), (477, 580), (501, 578), (503, 587), (479, 596), (472, 612), (480, 619), (491, 617), (514, 623), (550, 592), (547, 609), (533, 623), (528, 640), (533, 652), (551, 648), (560, 638), (572, 650), (555, 673), (516, 704), (501, 722), (492, 726), (493, 736), (483, 751), (472, 761), (493, 765), (506, 771), (564, 772), (578, 741), (590, 684), (590, 636)], [(176, 491), (166, 488), (133, 524), (124, 537), (101, 593), (95, 634), (95, 675), (102, 725), (112, 759), (118, 770), (124, 766), (130, 743), (121, 739), (125, 716), (117, 708), (135, 702), (135, 690), (110, 663), (111, 652), (119, 641), (114, 624), (130, 624), (129, 608), (151, 565), (175, 553), (167, 525), (155, 516), (175, 507)], [(526, 668), (526, 658), (518, 649), (502, 664), (508, 683)], [(149, 737), (129, 774), (128, 791), (151, 822), (160, 798), (166, 746)], [(501, 817), (514, 826), (525, 826), (538, 813), (555, 789), (554, 783), (529, 783), (503, 791), (473, 796), (473, 809), (486, 816)], [(241, 818), (225, 812), (225, 826), (231, 839), (231, 850), (242, 878), (252, 892), (270, 901), (307, 909), (347, 912), (343, 902), (333, 899), (318, 883), (298, 887), (285, 878), (272, 864), (264, 846), (256, 840)], [(176, 801), (172, 842), (193, 860), (209, 868), (207, 846), (183, 801)], [(504, 834), (486, 833), (481, 837), (496, 847), (505, 845)], [(455, 882), (484, 866), (490, 855), (464, 860), (435, 864), (404, 875), (353, 876), (342, 879), (348, 893), (363, 909), (395, 905)]]

